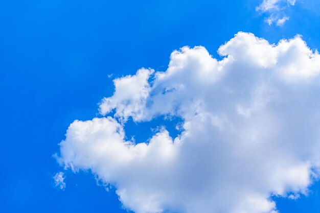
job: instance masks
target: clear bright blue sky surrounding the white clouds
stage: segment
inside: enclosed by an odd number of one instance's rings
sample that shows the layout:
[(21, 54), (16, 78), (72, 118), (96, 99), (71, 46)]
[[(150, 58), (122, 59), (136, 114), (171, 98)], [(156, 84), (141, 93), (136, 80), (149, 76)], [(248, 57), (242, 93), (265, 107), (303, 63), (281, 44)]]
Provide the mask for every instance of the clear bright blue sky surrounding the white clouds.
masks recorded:
[[(289, 17), (283, 26), (268, 25), (269, 12), (256, 10), (261, 2), (2, 1), (1, 211), (126, 212), (114, 186), (107, 192), (91, 172), (74, 174), (57, 163), (53, 155), (68, 126), (102, 117), (98, 103), (112, 96), (113, 79), (141, 67), (165, 71), (172, 51), (182, 46), (204, 46), (221, 60), (219, 46), (239, 31), (269, 43), (299, 34), (312, 50), (320, 46), (318, 2), (297, 0), (281, 10)], [(159, 125), (175, 137), (180, 122), (129, 119), (124, 128), (126, 138), (146, 141)], [(64, 190), (53, 180), (60, 171)], [(300, 199), (273, 200), (283, 213), (319, 212), (320, 184), (309, 190)]]

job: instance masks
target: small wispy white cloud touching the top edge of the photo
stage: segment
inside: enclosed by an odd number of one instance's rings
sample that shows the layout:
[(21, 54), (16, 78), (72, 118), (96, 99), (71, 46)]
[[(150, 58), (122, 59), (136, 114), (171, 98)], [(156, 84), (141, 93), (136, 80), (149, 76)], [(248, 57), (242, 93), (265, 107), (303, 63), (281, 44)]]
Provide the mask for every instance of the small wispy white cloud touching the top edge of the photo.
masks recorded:
[(263, 0), (256, 10), (269, 15), (266, 18), (268, 25), (276, 23), (277, 26), (282, 26), (289, 20), (284, 11), (294, 4), (295, 0)]

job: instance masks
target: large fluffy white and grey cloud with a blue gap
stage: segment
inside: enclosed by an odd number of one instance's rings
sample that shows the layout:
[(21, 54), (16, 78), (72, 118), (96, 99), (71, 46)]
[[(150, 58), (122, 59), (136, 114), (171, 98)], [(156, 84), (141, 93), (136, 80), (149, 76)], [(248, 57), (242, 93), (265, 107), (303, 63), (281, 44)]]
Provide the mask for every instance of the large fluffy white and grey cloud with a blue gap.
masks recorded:
[[(117, 188), (136, 213), (277, 212), (272, 196), (308, 193), (320, 167), (320, 56), (300, 36), (270, 44), (239, 32), (213, 58), (174, 51), (165, 72), (114, 80), (100, 113), (74, 121), (58, 161)], [(126, 140), (128, 119), (179, 117), (145, 143)]]

